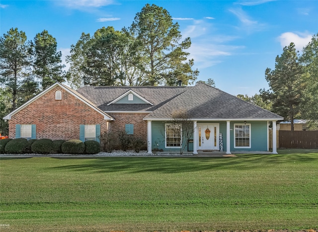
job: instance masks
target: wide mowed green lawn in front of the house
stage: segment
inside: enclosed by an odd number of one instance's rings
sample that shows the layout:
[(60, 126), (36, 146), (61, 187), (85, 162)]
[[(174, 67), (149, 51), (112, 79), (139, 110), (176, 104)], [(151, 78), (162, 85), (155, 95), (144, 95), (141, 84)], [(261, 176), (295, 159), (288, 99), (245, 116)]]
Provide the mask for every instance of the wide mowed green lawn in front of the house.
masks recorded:
[(278, 152), (1, 158), (0, 231), (317, 230), (318, 150)]

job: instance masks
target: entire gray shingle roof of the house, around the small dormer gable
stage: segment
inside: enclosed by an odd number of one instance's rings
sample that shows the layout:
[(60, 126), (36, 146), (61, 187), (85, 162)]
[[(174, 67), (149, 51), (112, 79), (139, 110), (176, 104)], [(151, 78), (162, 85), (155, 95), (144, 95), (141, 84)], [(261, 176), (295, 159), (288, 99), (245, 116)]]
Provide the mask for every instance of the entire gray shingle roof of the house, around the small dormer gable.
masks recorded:
[[(132, 89), (150, 104), (110, 104)], [(283, 118), (205, 83), (195, 86), (85, 86), (77, 90), (99, 109), (151, 111), (147, 119), (168, 119), (175, 110), (186, 110), (192, 119), (277, 119)]]

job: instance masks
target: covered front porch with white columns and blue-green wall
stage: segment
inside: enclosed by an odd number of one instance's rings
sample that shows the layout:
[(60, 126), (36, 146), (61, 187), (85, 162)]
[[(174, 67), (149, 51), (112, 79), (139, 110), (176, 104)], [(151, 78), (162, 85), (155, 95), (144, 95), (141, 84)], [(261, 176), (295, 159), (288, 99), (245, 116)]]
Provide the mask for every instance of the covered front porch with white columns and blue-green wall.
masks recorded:
[[(162, 152), (177, 153), (177, 147), (171, 149), (166, 146), (166, 135), (164, 125), (168, 121), (147, 120), (148, 121), (148, 153), (152, 154), (153, 149), (162, 145)], [(270, 153), (277, 154), (276, 148), (276, 121), (273, 124), (273, 149), (269, 152), (268, 126), (270, 121), (263, 120), (191, 120), (193, 122), (193, 155), (206, 155), (207, 151), (213, 151), (231, 155), (235, 153)], [(212, 130), (212, 131), (211, 131)], [(209, 136), (206, 134), (208, 131)], [(182, 133), (181, 133), (182, 134)], [(219, 137), (220, 135), (220, 137)], [(211, 139), (209, 140), (209, 138)], [(221, 139), (222, 137), (222, 139)], [(243, 138), (240, 138), (243, 137)], [(180, 136), (182, 138), (182, 136)], [(190, 139), (190, 138), (187, 138)], [(181, 140), (184, 140), (182, 138)], [(209, 140), (209, 141), (208, 141)], [(159, 142), (158, 142), (159, 141)], [(182, 144), (182, 143), (181, 143)], [(223, 146), (224, 145), (224, 146)], [(187, 149), (188, 151), (191, 151)], [(187, 152), (184, 150), (184, 152)]]

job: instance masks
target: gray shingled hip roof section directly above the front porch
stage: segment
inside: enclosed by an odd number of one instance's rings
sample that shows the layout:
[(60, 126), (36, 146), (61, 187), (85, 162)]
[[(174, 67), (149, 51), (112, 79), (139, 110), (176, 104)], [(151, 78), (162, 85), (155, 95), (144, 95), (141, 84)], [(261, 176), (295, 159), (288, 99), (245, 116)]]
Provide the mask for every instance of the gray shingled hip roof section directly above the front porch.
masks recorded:
[(175, 110), (185, 110), (191, 119), (282, 120), (283, 117), (239, 99), (205, 83), (197, 83), (171, 99), (145, 119), (169, 119)]

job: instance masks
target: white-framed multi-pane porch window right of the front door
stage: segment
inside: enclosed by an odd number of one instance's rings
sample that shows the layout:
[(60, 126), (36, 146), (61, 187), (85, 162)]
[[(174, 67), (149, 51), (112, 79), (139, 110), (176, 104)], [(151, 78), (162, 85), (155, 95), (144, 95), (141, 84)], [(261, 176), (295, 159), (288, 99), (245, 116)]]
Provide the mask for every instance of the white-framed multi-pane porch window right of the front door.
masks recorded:
[(250, 148), (250, 124), (235, 124), (235, 148)]

